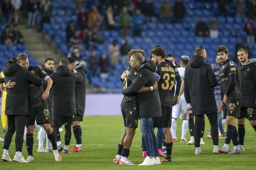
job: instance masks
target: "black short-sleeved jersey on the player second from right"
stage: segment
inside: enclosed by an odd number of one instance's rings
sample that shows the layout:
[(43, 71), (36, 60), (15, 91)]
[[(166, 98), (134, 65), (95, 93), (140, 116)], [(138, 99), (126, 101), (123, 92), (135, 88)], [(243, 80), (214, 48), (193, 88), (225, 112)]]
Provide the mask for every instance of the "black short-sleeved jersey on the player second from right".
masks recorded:
[(238, 75), (238, 68), (236, 67), (236, 64), (232, 60), (225, 61), (221, 67), (219, 68), (219, 79), (221, 82), (222, 92), (223, 95), (225, 94), (227, 90), (227, 85), (229, 83), (229, 75), (230, 74), (236, 74), (236, 82), (234, 85), (234, 90), (228, 95), (227, 101), (234, 101), (237, 99), (241, 99), (241, 91), (240, 91), (240, 81), (239, 81), (239, 75)]

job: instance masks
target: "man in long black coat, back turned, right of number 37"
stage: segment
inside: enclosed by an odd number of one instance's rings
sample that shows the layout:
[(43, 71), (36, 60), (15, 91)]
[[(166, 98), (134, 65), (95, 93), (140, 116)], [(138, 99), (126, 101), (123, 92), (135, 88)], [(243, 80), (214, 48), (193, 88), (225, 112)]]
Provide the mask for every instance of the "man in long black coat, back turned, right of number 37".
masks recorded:
[[(200, 131), (204, 119), (207, 115), (212, 132), (214, 145), (213, 152), (218, 153), (218, 124), (217, 124), (217, 105), (214, 96), (214, 89), (218, 81), (210, 64), (205, 62), (206, 51), (204, 47), (197, 47), (195, 55), (192, 56), (190, 65), (185, 69), (184, 76), (184, 95), (188, 108), (193, 110), (195, 115), (194, 140), (196, 152), (201, 153)], [(192, 108), (191, 108), (192, 106)]]

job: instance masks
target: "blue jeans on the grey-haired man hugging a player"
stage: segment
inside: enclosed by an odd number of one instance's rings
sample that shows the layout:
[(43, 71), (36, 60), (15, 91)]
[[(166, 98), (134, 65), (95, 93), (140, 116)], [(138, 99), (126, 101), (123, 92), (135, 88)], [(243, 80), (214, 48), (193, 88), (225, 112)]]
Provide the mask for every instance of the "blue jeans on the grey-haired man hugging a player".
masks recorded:
[(146, 146), (147, 156), (159, 156), (157, 148), (157, 138), (153, 128), (154, 118), (141, 118), (140, 131)]

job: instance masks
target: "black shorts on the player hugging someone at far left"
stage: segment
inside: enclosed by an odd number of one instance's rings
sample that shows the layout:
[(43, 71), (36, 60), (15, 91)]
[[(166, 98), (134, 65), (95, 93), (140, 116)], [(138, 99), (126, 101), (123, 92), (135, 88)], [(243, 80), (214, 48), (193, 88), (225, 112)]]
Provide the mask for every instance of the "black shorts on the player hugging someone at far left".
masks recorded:
[(37, 120), (37, 124), (50, 123), (49, 108), (45, 101), (43, 101), (42, 104), (38, 106), (29, 106), (29, 117), (26, 127), (29, 125), (34, 125), (35, 120)]

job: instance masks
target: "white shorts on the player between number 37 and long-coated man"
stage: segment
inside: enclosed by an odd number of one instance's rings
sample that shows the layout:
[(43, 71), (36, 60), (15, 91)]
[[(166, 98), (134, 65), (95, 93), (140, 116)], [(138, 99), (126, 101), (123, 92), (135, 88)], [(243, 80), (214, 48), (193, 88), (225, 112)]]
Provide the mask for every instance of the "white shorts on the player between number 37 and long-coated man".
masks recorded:
[(172, 118), (188, 120), (186, 100), (179, 100), (179, 104), (172, 106)]

